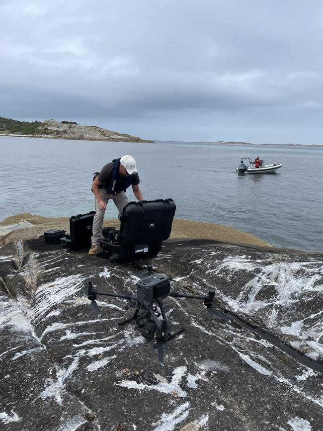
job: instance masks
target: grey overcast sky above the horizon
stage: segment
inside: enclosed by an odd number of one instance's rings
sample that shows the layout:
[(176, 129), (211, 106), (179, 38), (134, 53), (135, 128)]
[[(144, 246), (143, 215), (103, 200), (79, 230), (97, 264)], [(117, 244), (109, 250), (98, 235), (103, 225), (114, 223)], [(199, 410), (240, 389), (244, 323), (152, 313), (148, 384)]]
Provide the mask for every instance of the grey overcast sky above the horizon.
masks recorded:
[(323, 2), (0, 0), (0, 116), (323, 144)]

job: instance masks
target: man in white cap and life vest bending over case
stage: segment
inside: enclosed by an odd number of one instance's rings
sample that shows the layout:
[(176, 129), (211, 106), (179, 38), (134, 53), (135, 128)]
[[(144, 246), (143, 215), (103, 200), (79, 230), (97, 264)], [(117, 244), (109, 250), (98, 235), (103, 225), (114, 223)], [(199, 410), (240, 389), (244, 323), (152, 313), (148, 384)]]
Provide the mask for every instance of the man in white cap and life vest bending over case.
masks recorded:
[(125, 191), (130, 185), (136, 198), (144, 200), (139, 188), (139, 175), (136, 169), (136, 161), (132, 156), (122, 156), (103, 166), (101, 172), (92, 181), (92, 191), (95, 195), (95, 215), (93, 218), (91, 248), (89, 255), (96, 255), (100, 250), (102, 238), (102, 226), (106, 205), (113, 200), (119, 213), (128, 203)]

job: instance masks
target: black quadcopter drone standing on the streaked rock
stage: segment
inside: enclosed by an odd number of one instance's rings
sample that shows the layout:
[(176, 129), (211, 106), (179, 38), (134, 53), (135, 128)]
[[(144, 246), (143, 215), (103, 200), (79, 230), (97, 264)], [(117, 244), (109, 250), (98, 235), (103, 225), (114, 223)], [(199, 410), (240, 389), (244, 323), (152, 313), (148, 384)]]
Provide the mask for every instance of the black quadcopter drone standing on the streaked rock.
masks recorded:
[[(167, 296), (173, 298), (193, 298), (204, 301), (207, 308), (212, 307), (213, 298), (215, 296), (215, 289), (210, 289), (208, 295), (188, 295), (175, 291), (170, 291), (170, 280), (167, 275), (153, 273), (152, 266), (148, 266), (148, 276), (141, 278), (137, 281), (137, 295), (121, 295), (119, 293), (101, 292), (93, 290), (92, 282), (88, 282), (87, 299), (91, 301), (93, 311), (100, 316), (101, 312), (95, 302), (97, 295), (114, 296), (128, 300), (125, 306), (126, 310), (134, 309), (132, 317), (119, 322), (118, 325), (122, 326), (132, 320), (136, 321), (136, 329), (141, 335), (147, 339), (155, 339), (158, 352), (158, 358), (163, 365), (163, 344), (174, 338), (176, 335), (184, 331), (184, 328), (179, 329), (173, 333), (170, 332), (170, 326), (167, 323), (166, 315), (164, 312), (162, 299)], [(157, 305), (155, 305), (157, 303)], [(158, 309), (159, 308), (159, 309)], [(159, 317), (161, 316), (161, 319)]]

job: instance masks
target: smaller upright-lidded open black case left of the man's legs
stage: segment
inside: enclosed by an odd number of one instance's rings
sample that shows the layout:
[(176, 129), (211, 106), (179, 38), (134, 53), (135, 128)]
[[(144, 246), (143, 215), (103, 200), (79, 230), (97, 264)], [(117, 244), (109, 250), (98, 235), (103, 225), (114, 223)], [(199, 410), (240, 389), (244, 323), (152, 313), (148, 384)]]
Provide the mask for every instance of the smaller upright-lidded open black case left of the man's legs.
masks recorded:
[(63, 247), (77, 250), (91, 245), (92, 225), (95, 211), (70, 218), (70, 234), (61, 239)]

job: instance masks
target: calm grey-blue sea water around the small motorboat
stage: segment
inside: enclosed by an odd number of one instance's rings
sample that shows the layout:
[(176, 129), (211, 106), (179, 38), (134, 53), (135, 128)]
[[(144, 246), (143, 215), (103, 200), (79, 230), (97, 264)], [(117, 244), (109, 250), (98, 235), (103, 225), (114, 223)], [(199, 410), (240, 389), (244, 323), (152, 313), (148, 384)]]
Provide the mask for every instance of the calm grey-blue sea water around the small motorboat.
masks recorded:
[[(177, 218), (219, 223), (277, 247), (323, 252), (323, 148), (187, 142), (120, 143), (0, 136), (0, 220), (23, 212), (94, 209), (92, 173), (124, 154), (137, 160), (147, 200), (172, 198)], [(240, 176), (243, 156), (282, 163)], [(131, 189), (130, 200), (135, 200)], [(114, 204), (106, 218), (117, 217)]]

